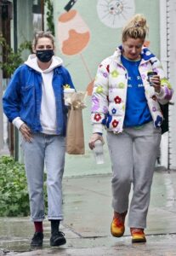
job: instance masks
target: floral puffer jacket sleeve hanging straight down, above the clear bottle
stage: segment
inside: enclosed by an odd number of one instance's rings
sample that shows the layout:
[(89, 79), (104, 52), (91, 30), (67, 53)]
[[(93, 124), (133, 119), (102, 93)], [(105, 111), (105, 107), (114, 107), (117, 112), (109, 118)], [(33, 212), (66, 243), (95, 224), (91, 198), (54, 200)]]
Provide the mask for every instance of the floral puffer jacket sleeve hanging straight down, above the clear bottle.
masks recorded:
[(103, 121), (108, 113), (108, 93), (109, 93), (109, 64), (108, 59), (102, 61), (98, 67), (94, 80), (92, 94), (91, 121), (93, 133), (103, 133)]

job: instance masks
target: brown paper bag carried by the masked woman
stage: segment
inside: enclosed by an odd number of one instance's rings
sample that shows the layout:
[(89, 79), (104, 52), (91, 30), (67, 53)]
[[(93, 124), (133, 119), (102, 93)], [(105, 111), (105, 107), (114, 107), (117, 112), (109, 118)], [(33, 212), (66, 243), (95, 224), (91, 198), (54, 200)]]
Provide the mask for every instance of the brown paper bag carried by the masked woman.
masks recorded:
[(66, 129), (66, 152), (68, 154), (85, 154), (82, 108), (71, 106), (69, 110)]

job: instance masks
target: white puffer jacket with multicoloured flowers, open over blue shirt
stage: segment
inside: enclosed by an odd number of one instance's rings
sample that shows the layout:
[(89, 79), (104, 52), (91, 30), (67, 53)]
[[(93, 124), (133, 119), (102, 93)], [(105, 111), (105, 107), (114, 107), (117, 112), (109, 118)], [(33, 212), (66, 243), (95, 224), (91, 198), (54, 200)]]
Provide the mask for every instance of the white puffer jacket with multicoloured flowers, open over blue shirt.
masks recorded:
[[(92, 95), (93, 132), (103, 133), (103, 126), (114, 133), (122, 132), (125, 117), (128, 72), (122, 66), (122, 47), (99, 65)], [(147, 73), (155, 71), (161, 79), (162, 90), (158, 94), (150, 86)], [(155, 127), (162, 125), (162, 112), (158, 102), (166, 104), (173, 96), (173, 90), (163, 72), (161, 62), (147, 48), (142, 49), (139, 73), (145, 87), (145, 96)]]

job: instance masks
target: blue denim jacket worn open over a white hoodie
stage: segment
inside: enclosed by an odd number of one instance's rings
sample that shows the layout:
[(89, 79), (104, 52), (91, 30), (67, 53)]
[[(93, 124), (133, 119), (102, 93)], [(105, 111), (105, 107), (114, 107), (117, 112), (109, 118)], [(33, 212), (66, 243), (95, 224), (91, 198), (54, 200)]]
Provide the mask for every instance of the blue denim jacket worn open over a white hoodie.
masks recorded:
[[(70, 73), (65, 67), (55, 67), (53, 89), (56, 102), (56, 133), (65, 136), (67, 108), (64, 104), (64, 85), (74, 85)], [(42, 131), (40, 111), (42, 102), (42, 75), (26, 64), (14, 72), (3, 96), (3, 111), (12, 122), (20, 117), (33, 132)]]

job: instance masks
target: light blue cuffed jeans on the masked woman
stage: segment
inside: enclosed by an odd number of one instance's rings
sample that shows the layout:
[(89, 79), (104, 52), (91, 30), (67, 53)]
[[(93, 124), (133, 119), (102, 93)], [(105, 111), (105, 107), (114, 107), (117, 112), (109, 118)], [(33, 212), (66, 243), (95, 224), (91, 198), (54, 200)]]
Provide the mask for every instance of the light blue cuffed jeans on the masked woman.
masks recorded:
[(48, 219), (63, 219), (62, 177), (65, 166), (65, 137), (33, 134), (32, 142), (22, 142), (30, 197), (31, 219), (43, 221), (43, 173), (47, 170)]

